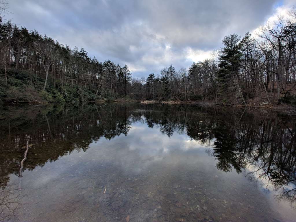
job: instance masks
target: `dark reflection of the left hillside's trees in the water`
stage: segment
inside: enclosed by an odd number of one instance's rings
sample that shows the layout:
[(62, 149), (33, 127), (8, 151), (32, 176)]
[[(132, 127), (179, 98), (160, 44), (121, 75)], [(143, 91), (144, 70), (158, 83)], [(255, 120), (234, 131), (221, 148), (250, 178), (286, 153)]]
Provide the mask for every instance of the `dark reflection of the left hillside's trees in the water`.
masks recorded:
[[(0, 186), (7, 184), (10, 173), (18, 175), (23, 170), (43, 166), (73, 150), (85, 151), (93, 141), (127, 135), (131, 128), (128, 111), (114, 105), (65, 109), (30, 106), (20, 108), (15, 115), (14, 107), (5, 109), (8, 110), (0, 111), (0, 128), (3, 129), (0, 131)], [(26, 115), (21, 115), (21, 110)], [(33, 146), (30, 158), (22, 167), (23, 146), (27, 141)]]

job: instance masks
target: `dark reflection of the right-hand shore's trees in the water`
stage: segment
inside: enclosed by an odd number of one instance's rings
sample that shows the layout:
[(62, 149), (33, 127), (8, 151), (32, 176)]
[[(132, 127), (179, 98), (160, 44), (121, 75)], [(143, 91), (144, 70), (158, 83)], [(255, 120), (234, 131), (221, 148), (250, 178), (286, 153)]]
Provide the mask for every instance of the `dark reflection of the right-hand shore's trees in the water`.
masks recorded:
[(281, 191), (282, 198), (293, 202), (296, 199), (295, 121), (237, 109), (211, 109), (185, 106), (144, 112), (144, 115), (149, 127), (157, 126), (169, 137), (174, 131), (186, 132), (192, 139), (212, 147), (212, 152), (208, 152), (215, 157), (218, 169), (228, 172), (234, 168), (237, 173), (245, 169), (251, 179), (267, 180), (267, 184)]

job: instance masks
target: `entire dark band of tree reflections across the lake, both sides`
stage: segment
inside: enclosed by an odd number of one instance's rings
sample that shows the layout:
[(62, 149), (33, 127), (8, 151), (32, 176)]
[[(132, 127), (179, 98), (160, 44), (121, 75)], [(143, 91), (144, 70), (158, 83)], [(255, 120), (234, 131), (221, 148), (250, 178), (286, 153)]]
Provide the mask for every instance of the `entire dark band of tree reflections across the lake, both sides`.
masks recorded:
[(102, 137), (128, 135), (137, 121), (159, 128), (168, 137), (186, 133), (212, 147), (210, 153), (218, 169), (228, 172), (234, 168), (238, 173), (246, 169), (251, 179), (266, 179), (281, 191), (282, 198), (295, 200), (295, 120), (235, 108), (183, 105), (90, 104), (23, 107), (17, 111), (4, 107), (0, 111), (0, 186), (8, 183), (10, 173), (18, 175), (26, 141), (33, 146), (21, 169), (32, 170), (73, 150), (86, 151)]

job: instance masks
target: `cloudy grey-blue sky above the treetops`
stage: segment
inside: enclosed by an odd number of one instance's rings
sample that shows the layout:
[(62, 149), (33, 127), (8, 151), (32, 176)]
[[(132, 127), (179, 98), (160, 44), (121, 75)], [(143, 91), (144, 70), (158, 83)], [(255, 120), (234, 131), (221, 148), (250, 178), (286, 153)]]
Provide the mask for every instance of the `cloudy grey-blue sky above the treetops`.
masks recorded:
[(134, 77), (211, 57), (224, 36), (252, 32), (296, 0), (8, 0), (12, 22), (127, 64)]

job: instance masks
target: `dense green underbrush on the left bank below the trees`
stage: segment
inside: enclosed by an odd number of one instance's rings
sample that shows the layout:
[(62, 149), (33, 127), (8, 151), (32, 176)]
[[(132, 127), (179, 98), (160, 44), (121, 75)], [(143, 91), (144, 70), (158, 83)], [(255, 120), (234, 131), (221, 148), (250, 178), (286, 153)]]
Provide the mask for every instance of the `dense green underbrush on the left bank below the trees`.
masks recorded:
[(31, 72), (17, 69), (7, 69), (7, 84), (4, 70), (0, 70), (0, 102), (59, 102), (80, 103), (95, 102), (96, 92), (86, 87), (47, 81), (43, 91), (45, 79)]

